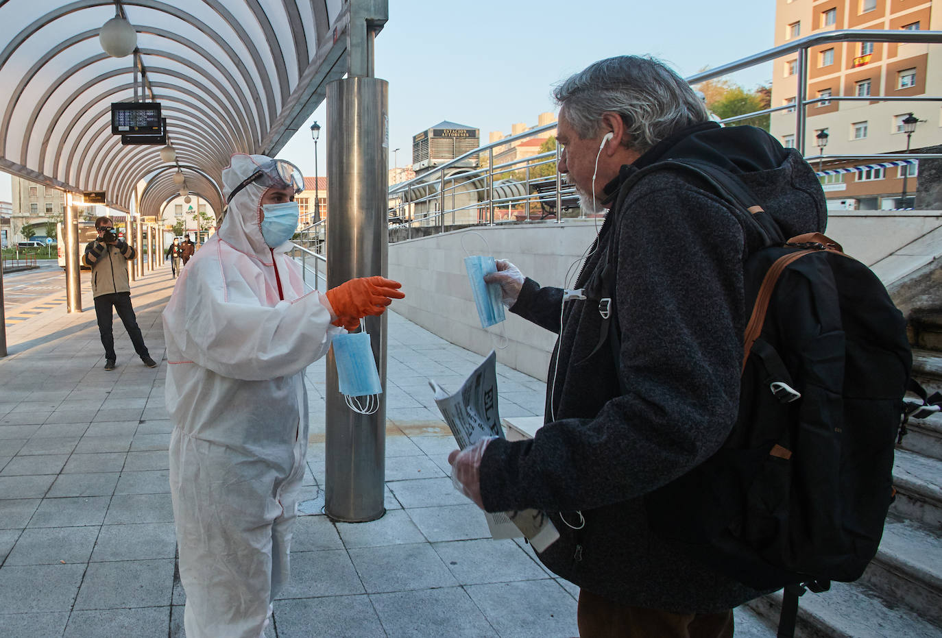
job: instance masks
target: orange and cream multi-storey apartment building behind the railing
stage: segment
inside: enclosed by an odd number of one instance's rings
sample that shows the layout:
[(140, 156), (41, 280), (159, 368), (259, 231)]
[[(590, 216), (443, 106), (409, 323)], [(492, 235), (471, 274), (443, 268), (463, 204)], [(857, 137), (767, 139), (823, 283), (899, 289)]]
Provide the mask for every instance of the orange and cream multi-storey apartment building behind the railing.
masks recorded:
[[(776, 0), (775, 45), (839, 29), (938, 30), (942, 29), (939, 8), (942, 1), (934, 0)], [(942, 104), (938, 102), (828, 99), (942, 95), (942, 45), (836, 42), (809, 49), (807, 66), (806, 99), (817, 102), (806, 107), (805, 156), (820, 154), (820, 142), (825, 139), (824, 153), (829, 155), (905, 152), (903, 120), (910, 114), (919, 120), (909, 140), (912, 150), (942, 144)], [(797, 54), (775, 60), (772, 105), (794, 104), (797, 94)], [(788, 108), (771, 116), (771, 134), (785, 146), (797, 146), (797, 115), (794, 108)], [(915, 161), (861, 158), (812, 163), (820, 168), (831, 208), (913, 206), (918, 185)]]

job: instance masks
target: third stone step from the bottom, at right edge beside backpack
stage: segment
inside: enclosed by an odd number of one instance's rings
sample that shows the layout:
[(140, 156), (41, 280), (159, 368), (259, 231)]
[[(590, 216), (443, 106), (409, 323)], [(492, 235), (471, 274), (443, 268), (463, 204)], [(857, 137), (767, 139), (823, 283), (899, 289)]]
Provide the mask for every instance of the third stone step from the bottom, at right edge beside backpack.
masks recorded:
[(932, 529), (942, 529), (942, 462), (908, 450), (896, 450), (893, 463), (896, 500), (890, 511)]

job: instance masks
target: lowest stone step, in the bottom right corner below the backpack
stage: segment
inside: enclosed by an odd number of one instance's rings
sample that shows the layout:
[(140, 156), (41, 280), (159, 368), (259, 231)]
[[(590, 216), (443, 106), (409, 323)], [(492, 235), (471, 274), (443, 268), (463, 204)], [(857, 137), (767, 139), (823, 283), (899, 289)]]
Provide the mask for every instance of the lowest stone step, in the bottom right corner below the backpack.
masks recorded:
[[(777, 626), (782, 592), (756, 598), (747, 606)], [(919, 614), (887, 605), (864, 585), (833, 582), (821, 594), (799, 598), (796, 638), (939, 638), (942, 628)]]

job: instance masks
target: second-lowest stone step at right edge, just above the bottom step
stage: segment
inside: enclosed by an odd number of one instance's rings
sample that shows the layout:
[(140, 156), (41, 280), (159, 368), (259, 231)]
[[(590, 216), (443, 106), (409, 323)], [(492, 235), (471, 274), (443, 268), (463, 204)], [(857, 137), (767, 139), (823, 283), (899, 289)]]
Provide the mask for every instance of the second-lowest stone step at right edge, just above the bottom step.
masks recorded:
[(880, 550), (860, 583), (942, 627), (942, 539), (938, 530), (890, 515)]

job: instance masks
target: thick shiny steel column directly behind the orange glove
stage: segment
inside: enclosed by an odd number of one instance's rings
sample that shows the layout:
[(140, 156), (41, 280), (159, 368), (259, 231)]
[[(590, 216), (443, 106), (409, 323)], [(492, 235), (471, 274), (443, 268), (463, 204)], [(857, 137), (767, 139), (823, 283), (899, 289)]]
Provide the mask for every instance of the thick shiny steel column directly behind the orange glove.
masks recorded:
[[(385, 121), (388, 84), (351, 76), (327, 85), (328, 288), (355, 277), (387, 274), (386, 193), (389, 173)], [(336, 219), (333, 219), (336, 217)], [(386, 314), (367, 317), (373, 355), (386, 384)], [(338, 391), (333, 350), (327, 359), (325, 511), (337, 520), (382, 517), (386, 394), (371, 415), (347, 407)]]

